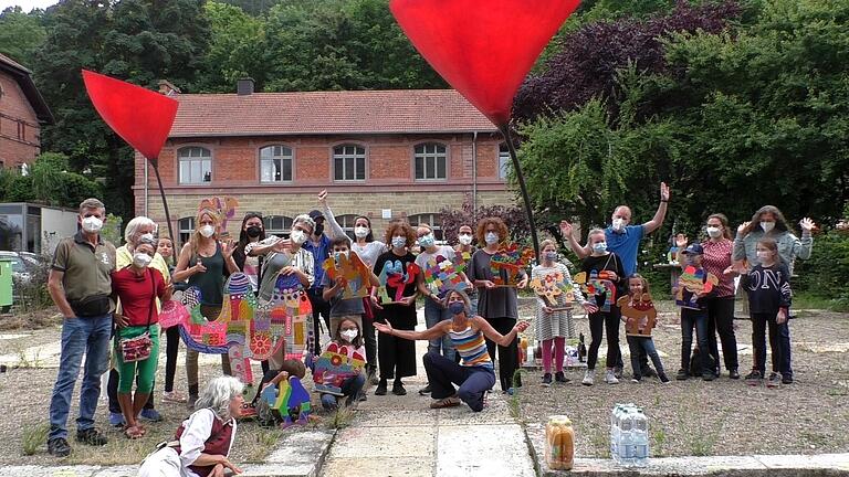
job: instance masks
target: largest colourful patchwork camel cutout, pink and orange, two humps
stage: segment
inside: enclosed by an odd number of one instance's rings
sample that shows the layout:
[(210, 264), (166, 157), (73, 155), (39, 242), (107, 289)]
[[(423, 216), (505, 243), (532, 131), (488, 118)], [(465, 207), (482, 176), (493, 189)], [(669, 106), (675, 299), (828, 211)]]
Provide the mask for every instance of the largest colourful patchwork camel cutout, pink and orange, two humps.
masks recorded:
[(260, 306), (248, 276), (235, 273), (224, 284), (221, 314), (209, 321), (200, 312), (200, 290), (191, 287), (182, 303), (189, 311), (180, 324), (186, 346), (202, 353), (230, 357), (233, 374), (251, 383), (250, 360), (265, 360), (286, 344), (287, 359), (300, 359), (310, 343), (312, 306), (295, 276), (280, 276), (272, 299)]

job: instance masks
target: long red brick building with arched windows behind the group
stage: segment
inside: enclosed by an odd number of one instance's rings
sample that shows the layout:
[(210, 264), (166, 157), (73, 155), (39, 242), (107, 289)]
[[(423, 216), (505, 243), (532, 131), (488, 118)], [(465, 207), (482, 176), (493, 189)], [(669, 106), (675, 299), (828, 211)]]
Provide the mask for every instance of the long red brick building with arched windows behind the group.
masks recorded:
[[(234, 236), (247, 211), (263, 213), (268, 230), (287, 232), (295, 215), (317, 206), (322, 189), (344, 227), (364, 214), (379, 233), (399, 218), (438, 226), (440, 209), (467, 197), (478, 205), (514, 201), (501, 136), (454, 91), (252, 88), (242, 82), (240, 94), (170, 92), (180, 107), (159, 170), (181, 239), (198, 202), (211, 195), (239, 200), (228, 227)], [(136, 155), (136, 214), (165, 225), (145, 162)]]

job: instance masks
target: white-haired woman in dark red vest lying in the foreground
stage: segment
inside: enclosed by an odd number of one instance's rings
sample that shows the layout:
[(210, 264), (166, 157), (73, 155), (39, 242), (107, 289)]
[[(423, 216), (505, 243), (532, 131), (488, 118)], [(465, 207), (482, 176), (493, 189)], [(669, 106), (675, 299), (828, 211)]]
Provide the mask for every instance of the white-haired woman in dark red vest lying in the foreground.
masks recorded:
[(242, 383), (231, 377), (210, 381), (193, 414), (180, 424), (174, 441), (147, 456), (139, 477), (223, 476), (242, 470), (228, 459), (235, 438), (235, 417), (244, 399)]

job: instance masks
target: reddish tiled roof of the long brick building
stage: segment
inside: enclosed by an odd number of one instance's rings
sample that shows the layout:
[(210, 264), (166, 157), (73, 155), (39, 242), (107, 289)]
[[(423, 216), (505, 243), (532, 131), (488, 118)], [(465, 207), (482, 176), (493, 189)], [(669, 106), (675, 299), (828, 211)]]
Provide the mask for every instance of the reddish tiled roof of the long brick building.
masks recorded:
[(177, 94), (170, 137), (496, 131), (453, 89)]

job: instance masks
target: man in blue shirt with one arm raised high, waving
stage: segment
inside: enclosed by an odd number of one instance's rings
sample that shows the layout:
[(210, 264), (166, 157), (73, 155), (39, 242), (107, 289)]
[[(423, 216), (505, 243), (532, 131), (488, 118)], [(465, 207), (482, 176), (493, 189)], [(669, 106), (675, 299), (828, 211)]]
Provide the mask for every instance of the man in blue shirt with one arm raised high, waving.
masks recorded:
[[(669, 186), (665, 182), (660, 183), (660, 204), (658, 211), (654, 212), (654, 216), (650, 221), (642, 225), (630, 225), (631, 223), (631, 209), (628, 205), (619, 205), (614, 210), (611, 218), (611, 224), (605, 229), (605, 241), (607, 242), (607, 250), (616, 253), (622, 259), (622, 268), (626, 276), (633, 275), (637, 272), (637, 254), (640, 250), (640, 241), (642, 237), (654, 232), (663, 225), (663, 220), (667, 218), (667, 205), (669, 204)], [(560, 221), (560, 232), (563, 236), (569, 241), (572, 251), (578, 255), (578, 258), (587, 257), (593, 251), (589, 248), (589, 244), (581, 246), (578, 240), (573, 235), (573, 226), (567, 221)], [(643, 352), (640, 352), (640, 363), (642, 368), (642, 375), (654, 375), (654, 371), (649, 368), (648, 360)], [(616, 377), (622, 375), (622, 357), (621, 353), (617, 359), (615, 367)]]

